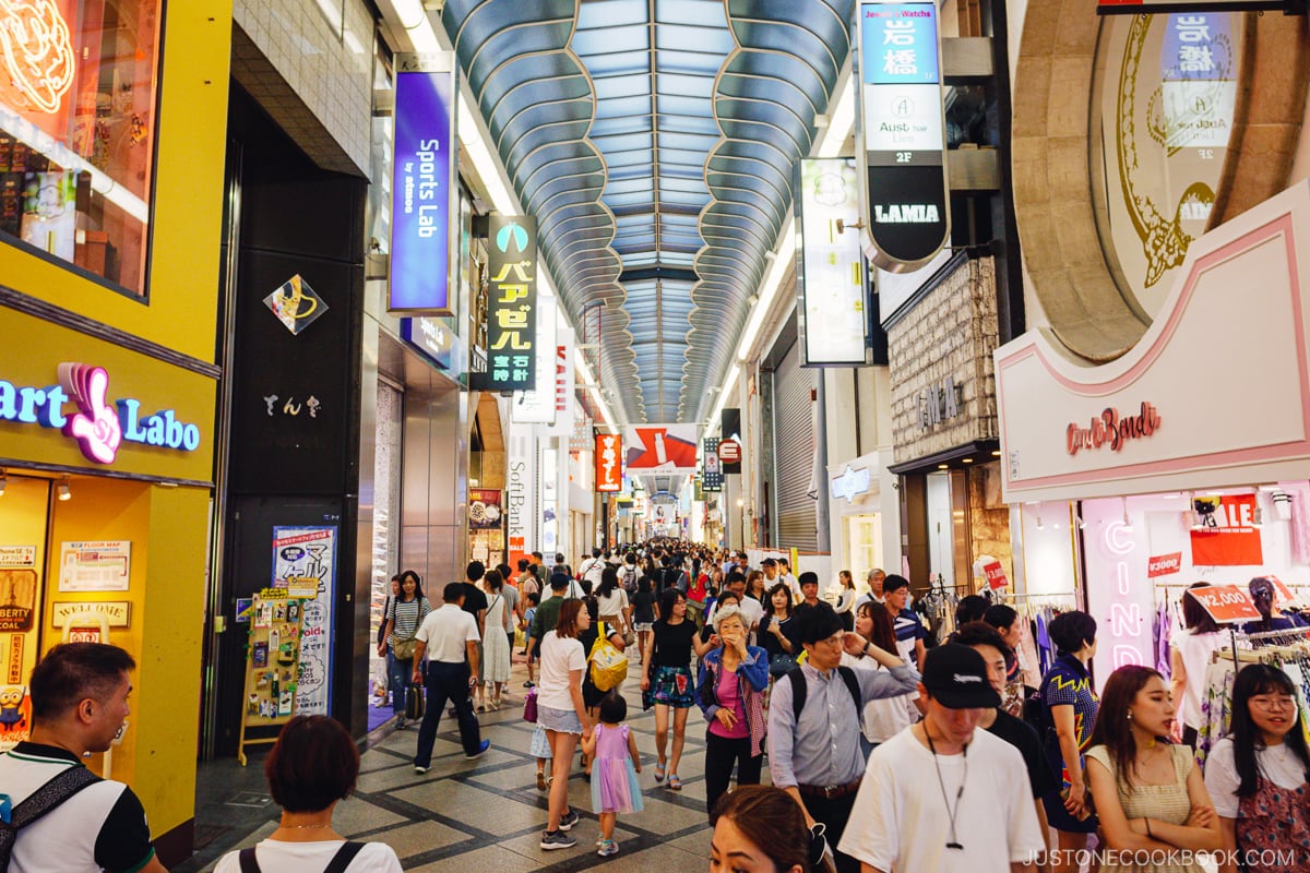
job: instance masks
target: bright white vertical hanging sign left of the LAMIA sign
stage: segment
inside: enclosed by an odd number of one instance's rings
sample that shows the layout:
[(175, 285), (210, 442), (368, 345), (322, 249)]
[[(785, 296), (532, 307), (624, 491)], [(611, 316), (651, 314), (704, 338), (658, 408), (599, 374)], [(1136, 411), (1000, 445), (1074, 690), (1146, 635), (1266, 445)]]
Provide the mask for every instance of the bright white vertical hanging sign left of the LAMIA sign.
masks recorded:
[(859, 170), (855, 160), (803, 158), (798, 190), (800, 364), (867, 364), (869, 305), (859, 240)]

